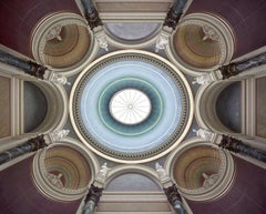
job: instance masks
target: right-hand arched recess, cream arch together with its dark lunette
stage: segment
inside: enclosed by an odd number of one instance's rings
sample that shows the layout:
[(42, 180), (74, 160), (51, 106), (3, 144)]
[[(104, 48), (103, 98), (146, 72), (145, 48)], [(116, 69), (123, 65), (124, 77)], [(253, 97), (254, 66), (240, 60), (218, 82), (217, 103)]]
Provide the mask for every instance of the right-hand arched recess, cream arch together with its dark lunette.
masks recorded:
[(242, 82), (215, 82), (196, 95), (196, 119), (217, 133), (242, 132)]

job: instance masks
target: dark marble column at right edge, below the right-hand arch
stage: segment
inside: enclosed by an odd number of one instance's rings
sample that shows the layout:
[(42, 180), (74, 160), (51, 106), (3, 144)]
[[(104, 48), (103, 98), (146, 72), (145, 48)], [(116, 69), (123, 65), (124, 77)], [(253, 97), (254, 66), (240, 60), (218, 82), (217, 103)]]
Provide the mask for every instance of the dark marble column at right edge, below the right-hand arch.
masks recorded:
[(223, 135), (219, 147), (226, 149), (234, 153), (244, 154), (266, 163), (266, 152), (244, 144), (241, 140)]

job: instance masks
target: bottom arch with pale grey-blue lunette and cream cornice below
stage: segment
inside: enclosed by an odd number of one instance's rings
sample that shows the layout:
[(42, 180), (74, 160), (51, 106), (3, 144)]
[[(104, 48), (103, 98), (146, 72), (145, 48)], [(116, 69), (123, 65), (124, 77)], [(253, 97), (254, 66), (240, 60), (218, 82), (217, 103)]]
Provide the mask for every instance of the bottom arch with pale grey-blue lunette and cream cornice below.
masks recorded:
[(108, 182), (98, 212), (170, 213), (167, 198), (154, 174), (143, 166), (119, 166)]

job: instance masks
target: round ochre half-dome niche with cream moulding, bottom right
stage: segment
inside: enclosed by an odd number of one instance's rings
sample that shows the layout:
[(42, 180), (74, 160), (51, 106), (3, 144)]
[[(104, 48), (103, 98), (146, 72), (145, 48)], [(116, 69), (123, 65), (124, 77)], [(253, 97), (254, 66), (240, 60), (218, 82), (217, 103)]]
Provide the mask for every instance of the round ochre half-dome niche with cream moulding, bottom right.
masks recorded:
[(186, 198), (214, 200), (231, 187), (234, 180), (234, 161), (228, 152), (209, 143), (195, 142), (175, 154), (172, 176)]

